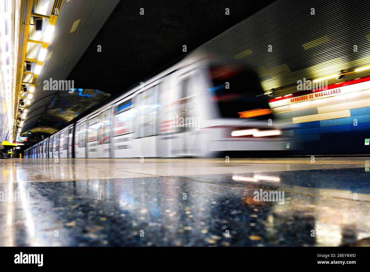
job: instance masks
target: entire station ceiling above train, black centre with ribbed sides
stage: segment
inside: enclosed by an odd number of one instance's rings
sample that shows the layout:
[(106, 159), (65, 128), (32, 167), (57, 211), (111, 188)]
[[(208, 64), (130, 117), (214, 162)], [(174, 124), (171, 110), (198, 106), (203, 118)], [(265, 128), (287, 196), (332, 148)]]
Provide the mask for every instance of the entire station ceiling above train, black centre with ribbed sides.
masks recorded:
[[(47, 0), (37, 3), (42, 1)], [(225, 15), (226, 8), (230, 15)], [(206, 0), (65, 0), (49, 46), (51, 56), (38, 84), (52, 77), (73, 80), (74, 88), (83, 90), (72, 95), (43, 91), (41, 83), (23, 131), (44, 126), (46, 118), (50, 126), (63, 127), (110, 95), (124, 92), (185, 56), (183, 45), (188, 53), (248, 64), (257, 71), (263, 90), (273, 89), (271, 97), (295, 93), (297, 80), (370, 64), (368, 14), (370, 2), (361, 0), (212, 4)], [(332, 78), (328, 84), (364, 77), (369, 71)]]

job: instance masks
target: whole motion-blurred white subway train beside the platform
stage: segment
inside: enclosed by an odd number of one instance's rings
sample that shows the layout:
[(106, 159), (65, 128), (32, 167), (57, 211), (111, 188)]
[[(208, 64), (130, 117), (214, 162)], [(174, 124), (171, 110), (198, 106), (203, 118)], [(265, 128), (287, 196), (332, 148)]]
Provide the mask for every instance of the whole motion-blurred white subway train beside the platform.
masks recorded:
[(26, 158), (208, 157), (286, 150), (258, 77), (188, 57), (26, 150)]

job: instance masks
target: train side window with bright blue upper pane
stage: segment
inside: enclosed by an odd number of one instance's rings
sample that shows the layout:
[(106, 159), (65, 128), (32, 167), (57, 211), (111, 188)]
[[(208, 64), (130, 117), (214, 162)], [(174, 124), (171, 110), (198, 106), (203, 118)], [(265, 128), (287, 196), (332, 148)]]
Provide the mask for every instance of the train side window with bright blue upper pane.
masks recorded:
[(132, 133), (132, 120), (136, 116), (134, 102), (127, 100), (115, 108), (113, 137)]

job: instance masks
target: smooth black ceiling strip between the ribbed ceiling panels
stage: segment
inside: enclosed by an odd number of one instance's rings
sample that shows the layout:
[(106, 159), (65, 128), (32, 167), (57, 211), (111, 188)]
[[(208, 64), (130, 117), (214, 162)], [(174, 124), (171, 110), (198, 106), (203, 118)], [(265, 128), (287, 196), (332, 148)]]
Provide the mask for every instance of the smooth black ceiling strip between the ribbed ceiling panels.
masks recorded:
[(119, 94), (272, 2), (121, 0), (67, 79)]

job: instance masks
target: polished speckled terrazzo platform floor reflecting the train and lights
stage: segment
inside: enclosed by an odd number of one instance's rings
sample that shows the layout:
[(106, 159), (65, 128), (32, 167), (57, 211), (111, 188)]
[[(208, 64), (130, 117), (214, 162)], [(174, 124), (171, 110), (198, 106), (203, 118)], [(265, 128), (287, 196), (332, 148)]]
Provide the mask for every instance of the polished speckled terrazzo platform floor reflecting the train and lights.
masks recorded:
[(0, 246), (369, 245), (369, 157), (226, 161), (0, 160)]

